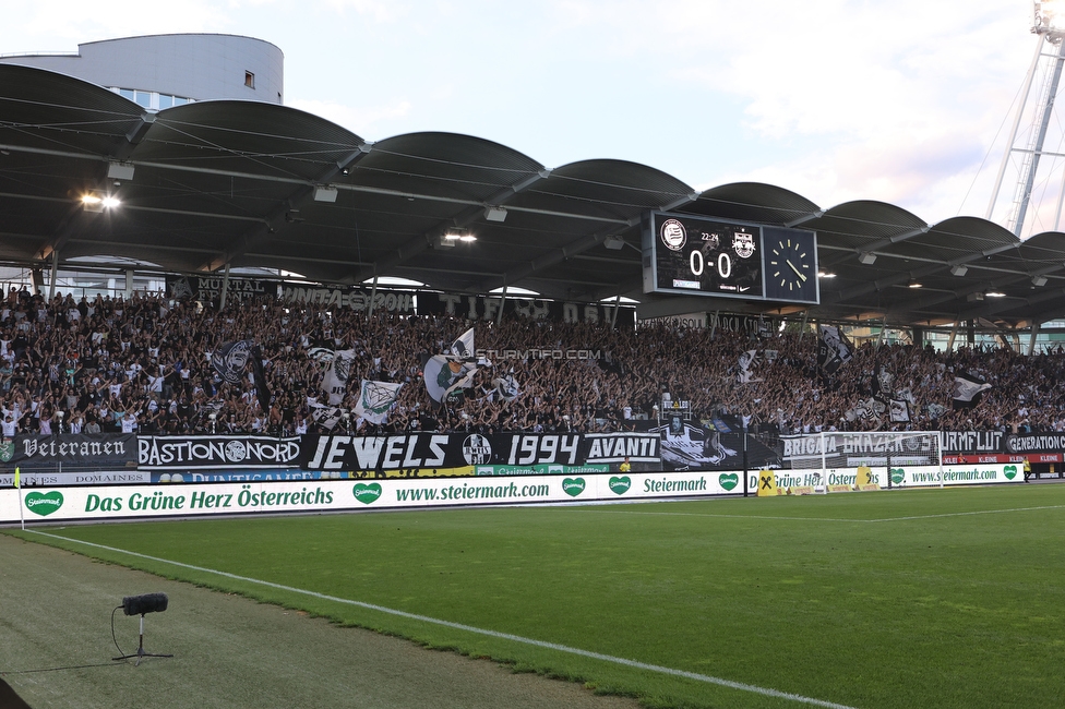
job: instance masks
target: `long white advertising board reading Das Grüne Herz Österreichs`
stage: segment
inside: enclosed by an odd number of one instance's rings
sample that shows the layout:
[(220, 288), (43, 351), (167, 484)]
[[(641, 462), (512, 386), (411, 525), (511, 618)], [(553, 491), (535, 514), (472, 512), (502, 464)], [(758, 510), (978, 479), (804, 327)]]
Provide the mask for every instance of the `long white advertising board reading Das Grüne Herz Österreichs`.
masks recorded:
[(297, 480), (0, 490), (0, 522), (343, 512), (742, 494), (740, 472)]

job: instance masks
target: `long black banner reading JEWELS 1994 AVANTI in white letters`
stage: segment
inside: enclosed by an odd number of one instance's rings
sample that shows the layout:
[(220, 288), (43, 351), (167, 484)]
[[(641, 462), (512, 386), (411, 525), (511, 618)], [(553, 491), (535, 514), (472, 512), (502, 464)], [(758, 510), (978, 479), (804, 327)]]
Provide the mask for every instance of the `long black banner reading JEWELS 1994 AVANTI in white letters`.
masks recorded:
[(661, 469), (657, 433), (397, 433), (381, 436), (304, 435), (307, 470), (417, 470), (411, 477), (564, 474), (575, 468)]

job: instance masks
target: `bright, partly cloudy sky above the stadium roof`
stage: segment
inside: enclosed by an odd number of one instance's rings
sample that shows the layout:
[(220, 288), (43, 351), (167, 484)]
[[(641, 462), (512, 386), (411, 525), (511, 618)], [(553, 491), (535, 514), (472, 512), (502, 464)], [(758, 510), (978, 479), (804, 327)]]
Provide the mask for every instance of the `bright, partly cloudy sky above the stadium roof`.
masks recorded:
[(1022, 0), (5, 0), (0, 53), (244, 35), (285, 53), (286, 105), (369, 141), (465, 133), (934, 224), (985, 216), (1031, 25)]

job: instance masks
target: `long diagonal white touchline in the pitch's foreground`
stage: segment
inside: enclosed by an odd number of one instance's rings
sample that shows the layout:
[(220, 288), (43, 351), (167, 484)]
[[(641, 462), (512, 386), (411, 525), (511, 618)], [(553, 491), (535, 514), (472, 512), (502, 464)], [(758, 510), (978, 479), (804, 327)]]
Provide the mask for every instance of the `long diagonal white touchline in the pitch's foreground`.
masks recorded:
[(110, 552), (118, 552), (120, 554), (129, 554), (130, 556), (136, 556), (137, 558), (146, 558), (153, 562), (159, 562), (163, 564), (171, 564), (173, 566), (180, 566), (181, 568), (188, 568), (194, 572), (202, 572), (205, 574), (215, 574), (217, 576), (223, 576), (225, 578), (230, 578), (238, 581), (247, 581), (249, 584), (258, 584), (260, 586), (266, 586), (268, 588), (274, 588), (280, 591), (289, 591), (291, 593), (301, 593), (303, 596), (310, 596), (312, 598), (318, 598), (323, 601), (333, 601), (336, 603), (346, 603), (348, 605), (357, 605), (359, 608), (364, 608), (371, 611), (380, 611), (381, 613), (388, 613), (391, 615), (396, 615), (399, 617), (410, 618), (412, 621), (421, 621), (422, 623), (432, 623), (434, 625), (442, 625), (444, 627), (455, 628), (457, 630), (466, 630), (467, 633), (476, 633), (478, 635), (487, 635), (493, 638), (500, 638), (503, 640), (513, 640), (514, 642), (522, 642), (524, 645), (531, 645), (538, 648), (545, 648), (549, 650), (558, 650), (560, 652), (567, 652), (570, 654), (577, 654), (584, 658), (591, 658), (594, 660), (602, 660), (605, 662), (612, 662), (614, 664), (621, 664), (627, 668), (633, 668), (636, 670), (647, 670), (649, 672), (658, 672), (660, 674), (668, 674), (675, 677), (684, 677), (686, 680), (695, 680), (696, 682), (705, 682), (708, 684), (716, 684), (722, 687), (729, 687), (731, 689), (739, 689), (741, 692), (751, 692), (765, 697), (776, 697), (779, 699), (789, 699), (791, 701), (798, 701), (800, 704), (811, 705), (814, 707), (828, 707), (829, 709), (855, 709), (854, 707), (849, 707), (847, 705), (835, 704), (833, 701), (825, 701), (824, 699), (813, 699), (811, 697), (803, 697), (798, 694), (790, 694), (788, 692), (780, 692), (779, 689), (770, 689), (768, 687), (758, 687), (752, 684), (744, 684), (742, 682), (732, 682), (731, 680), (722, 680), (721, 677), (714, 677), (707, 674), (698, 674), (696, 672), (686, 672), (684, 670), (674, 670), (673, 668), (665, 668), (658, 664), (648, 664), (646, 662), (639, 662), (637, 660), (626, 660), (625, 658), (615, 658), (611, 654), (602, 654), (600, 652), (591, 652), (590, 650), (582, 650), (579, 648), (571, 648), (566, 645), (559, 645), (557, 642), (547, 642), (545, 640), (536, 640), (532, 638), (522, 637), (520, 635), (511, 635), (510, 633), (499, 633), (496, 630), (487, 630), (484, 628), (474, 627), (472, 625), (465, 625), (463, 623), (453, 623), (451, 621), (442, 621), (440, 618), (430, 617), (428, 615), (418, 615), (417, 613), (408, 613), (406, 611), (398, 611), (396, 609), (385, 608), (383, 605), (375, 605), (373, 603), (367, 603), (364, 601), (354, 601), (347, 598), (338, 598), (336, 596), (328, 596), (326, 593), (319, 593), (318, 591), (309, 591), (302, 588), (294, 588), (291, 586), (285, 586), (284, 584), (274, 584), (273, 581), (264, 581), (258, 578), (250, 578), (248, 576), (239, 576), (237, 574), (230, 574), (229, 572), (219, 572), (213, 568), (205, 568), (203, 566), (194, 566), (192, 564), (184, 564), (182, 562), (173, 562), (169, 558), (159, 558), (158, 556), (149, 556), (147, 554), (141, 554), (140, 552), (131, 552), (125, 549), (117, 549), (115, 546), (106, 546), (104, 544), (97, 544), (95, 542), (86, 542), (80, 539), (71, 539), (70, 537), (61, 537), (59, 534), (51, 534), (48, 532), (37, 531), (34, 529), (27, 529), (26, 531), (40, 534), (43, 537), (51, 537), (53, 539), (61, 539), (67, 542), (74, 542), (76, 544), (85, 544), (86, 546), (94, 546), (96, 549), (105, 549)]

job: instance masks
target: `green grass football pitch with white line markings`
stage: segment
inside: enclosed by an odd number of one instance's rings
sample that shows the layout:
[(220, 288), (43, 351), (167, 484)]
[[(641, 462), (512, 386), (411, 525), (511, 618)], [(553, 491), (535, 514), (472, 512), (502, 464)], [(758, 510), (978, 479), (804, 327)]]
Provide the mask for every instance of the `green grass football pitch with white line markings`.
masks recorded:
[(1052, 707), (1065, 485), (8, 530), (653, 707)]

